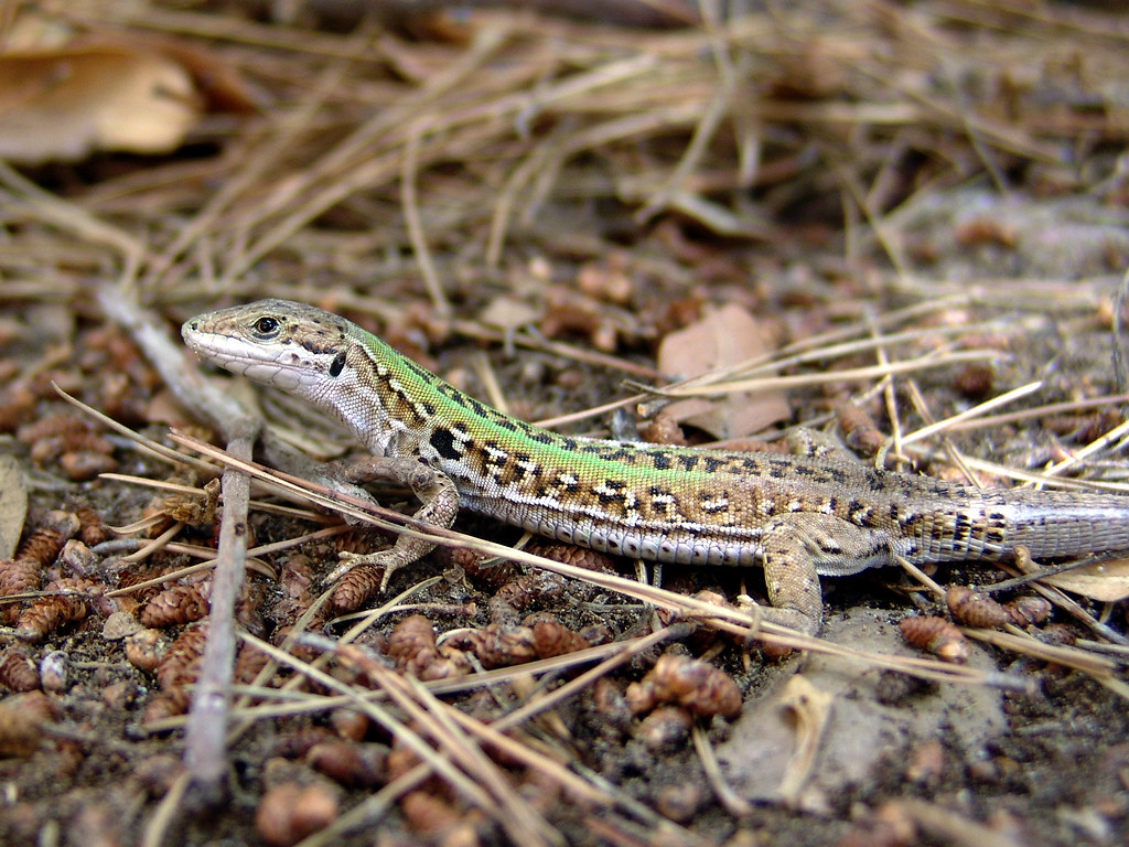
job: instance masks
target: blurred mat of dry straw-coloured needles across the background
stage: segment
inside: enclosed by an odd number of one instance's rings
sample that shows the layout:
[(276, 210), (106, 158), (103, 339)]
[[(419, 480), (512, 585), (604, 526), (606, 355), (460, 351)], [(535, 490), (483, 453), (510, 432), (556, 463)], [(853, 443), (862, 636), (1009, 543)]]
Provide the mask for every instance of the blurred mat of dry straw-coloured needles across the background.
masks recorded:
[[(450, 289), (510, 267), (513, 245), (563, 247), (549, 221), (595, 201), (637, 222), (674, 213), (772, 238), (772, 221), (838, 195), (826, 211), (855, 221), (848, 243), (877, 238), (904, 267), (894, 210), (1018, 168), (1048, 187), (1093, 174), (1119, 191), (1103, 143), (1129, 130), (1129, 104), (1106, 85), (1129, 71), (1129, 30), (1077, 9), (791, 3), (666, 33), (479, 11), (460, 43), (113, 0), (61, 16), (207, 44), (262, 112), (201, 125), (219, 155), (65, 201), (0, 171), (3, 220), (23, 234), (3, 270), (20, 297), (97, 273), (149, 303), (248, 296), (268, 279), (309, 298), (330, 274), (353, 280), (341, 305), (392, 320), (399, 309), (375, 300), (409, 276), (445, 315)], [(68, 272), (38, 277), (46, 267)]]

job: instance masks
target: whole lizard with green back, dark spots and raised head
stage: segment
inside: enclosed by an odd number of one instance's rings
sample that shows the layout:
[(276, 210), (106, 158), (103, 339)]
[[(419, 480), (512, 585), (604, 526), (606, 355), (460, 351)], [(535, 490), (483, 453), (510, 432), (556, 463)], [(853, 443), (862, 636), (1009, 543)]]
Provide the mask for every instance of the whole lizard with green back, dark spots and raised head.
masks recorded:
[[(202, 359), (339, 420), (415, 517), (467, 508), (596, 551), (764, 570), (765, 620), (817, 635), (821, 576), (891, 565), (1129, 551), (1129, 500), (1100, 492), (980, 489), (838, 456), (730, 452), (561, 435), (505, 414), (329, 312), (266, 299), (185, 322)], [(434, 545), (399, 536), (341, 553), (392, 573)]]

